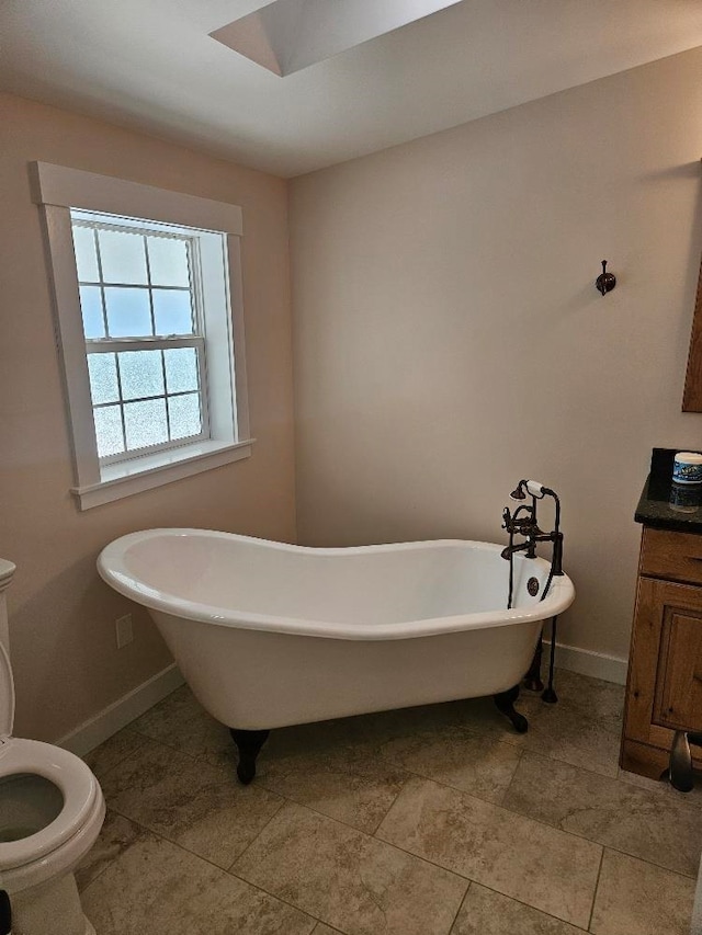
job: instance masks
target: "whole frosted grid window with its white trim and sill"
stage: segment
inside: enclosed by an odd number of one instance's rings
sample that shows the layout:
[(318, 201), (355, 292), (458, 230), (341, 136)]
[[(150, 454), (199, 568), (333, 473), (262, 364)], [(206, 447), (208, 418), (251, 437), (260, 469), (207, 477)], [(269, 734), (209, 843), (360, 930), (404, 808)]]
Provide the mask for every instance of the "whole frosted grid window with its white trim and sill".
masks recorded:
[(248, 456), (240, 208), (33, 169), (81, 508)]

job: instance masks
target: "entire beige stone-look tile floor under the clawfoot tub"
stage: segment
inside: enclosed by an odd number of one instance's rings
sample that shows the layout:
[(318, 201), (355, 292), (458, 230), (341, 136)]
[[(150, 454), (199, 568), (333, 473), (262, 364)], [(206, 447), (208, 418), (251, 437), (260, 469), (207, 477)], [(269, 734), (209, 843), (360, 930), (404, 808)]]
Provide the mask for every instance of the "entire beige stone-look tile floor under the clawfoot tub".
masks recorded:
[(274, 731), (249, 787), (179, 688), (87, 756), (107, 801), (79, 869), (99, 935), (688, 935), (702, 791), (618, 767), (623, 688)]

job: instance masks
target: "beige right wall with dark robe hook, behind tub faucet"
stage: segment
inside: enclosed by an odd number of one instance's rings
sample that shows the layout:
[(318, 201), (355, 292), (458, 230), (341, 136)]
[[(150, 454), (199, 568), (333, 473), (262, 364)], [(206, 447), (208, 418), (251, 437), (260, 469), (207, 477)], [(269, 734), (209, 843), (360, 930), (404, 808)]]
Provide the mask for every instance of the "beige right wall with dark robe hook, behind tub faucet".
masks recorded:
[(299, 540), (502, 540), (535, 477), (564, 641), (626, 655), (650, 448), (702, 446), (701, 155), (702, 49), (295, 180)]

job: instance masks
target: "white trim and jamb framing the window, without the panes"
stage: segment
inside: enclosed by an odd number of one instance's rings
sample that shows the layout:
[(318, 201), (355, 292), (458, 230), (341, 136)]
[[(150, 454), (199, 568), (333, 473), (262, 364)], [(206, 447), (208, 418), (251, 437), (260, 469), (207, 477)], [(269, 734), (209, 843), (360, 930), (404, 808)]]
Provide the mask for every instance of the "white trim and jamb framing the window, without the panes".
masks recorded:
[[(48, 267), (54, 290), (57, 346), (63, 361), (68, 422), (71, 427), (76, 487), (71, 488), (81, 510), (129, 497), (249, 457), (250, 437), (241, 293), (241, 208), (222, 202), (169, 192), (151, 185), (126, 182), (93, 172), (82, 172), (46, 162), (31, 163), (32, 196), (39, 205), (46, 239)], [(227, 313), (210, 328), (206, 344), (234, 346), (227, 354), (208, 354), (211, 388), (211, 438), (178, 448), (103, 465), (98, 458), (86, 340), (73, 253), (70, 208), (103, 212), (122, 217), (148, 218), (227, 235)], [(204, 259), (207, 262), (207, 259)], [(203, 278), (206, 280), (206, 276)], [(207, 297), (205, 297), (207, 301)], [(217, 400), (227, 397), (230, 404)]]

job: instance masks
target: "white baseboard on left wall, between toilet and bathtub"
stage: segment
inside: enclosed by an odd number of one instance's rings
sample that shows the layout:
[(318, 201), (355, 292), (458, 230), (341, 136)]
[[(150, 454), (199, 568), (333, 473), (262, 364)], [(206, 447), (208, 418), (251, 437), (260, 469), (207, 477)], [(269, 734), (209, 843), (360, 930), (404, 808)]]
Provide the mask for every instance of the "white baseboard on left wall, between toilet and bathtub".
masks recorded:
[(106, 708), (81, 723), (76, 730), (71, 730), (66, 737), (57, 740), (56, 745), (70, 750), (78, 756), (84, 756), (86, 753), (103, 743), (113, 733), (122, 730), (135, 718), (148, 711), (149, 708), (152, 708), (154, 705), (170, 695), (184, 682), (180, 669), (173, 662), (141, 685), (137, 685), (136, 688), (127, 692), (122, 698), (117, 698), (116, 702), (107, 705)]

